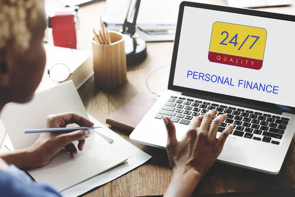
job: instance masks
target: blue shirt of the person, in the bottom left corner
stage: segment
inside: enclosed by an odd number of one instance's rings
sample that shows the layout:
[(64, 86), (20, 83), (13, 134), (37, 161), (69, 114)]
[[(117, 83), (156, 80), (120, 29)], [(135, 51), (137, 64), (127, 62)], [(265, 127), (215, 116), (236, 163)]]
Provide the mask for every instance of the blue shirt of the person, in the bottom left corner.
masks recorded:
[(0, 197), (61, 197), (53, 188), (37, 183), (11, 165), (0, 170)]

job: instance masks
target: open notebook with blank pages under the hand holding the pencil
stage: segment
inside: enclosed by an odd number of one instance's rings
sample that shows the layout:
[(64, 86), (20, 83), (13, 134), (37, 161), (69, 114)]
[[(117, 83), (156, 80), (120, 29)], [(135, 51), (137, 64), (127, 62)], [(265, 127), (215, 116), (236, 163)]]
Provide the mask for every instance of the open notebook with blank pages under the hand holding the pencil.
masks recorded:
[[(75, 112), (89, 118), (72, 81), (35, 94), (27, 104), (6, 105), (1, 119), (14, 149), (20, 149), (33, 144), (39, 136), (24, 134), (24, 129), (43, 128), (49, 114), (65, 112)], [(115, 148), (96, 132), (99, 129), (91, 132), (84, 150), (78, 151), (75, 158), (61, 151), (49, 165), (29, 170), (29, 173), (37, 182), (46, 182), (61, 192), (126, 162), (132, 156), (122, 154), (121, 148)]]

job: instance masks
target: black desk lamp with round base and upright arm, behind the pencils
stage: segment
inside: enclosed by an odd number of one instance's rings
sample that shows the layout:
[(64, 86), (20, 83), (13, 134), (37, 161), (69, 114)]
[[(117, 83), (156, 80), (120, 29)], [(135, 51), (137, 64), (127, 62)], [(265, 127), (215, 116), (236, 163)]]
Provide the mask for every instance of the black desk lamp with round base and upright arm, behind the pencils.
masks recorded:
[(136, 33), (136, 20), (141, 0), (130, 0), (121, 32), (125, 38), (127, 66), (138, 64), (147, 57), (147, 44)]

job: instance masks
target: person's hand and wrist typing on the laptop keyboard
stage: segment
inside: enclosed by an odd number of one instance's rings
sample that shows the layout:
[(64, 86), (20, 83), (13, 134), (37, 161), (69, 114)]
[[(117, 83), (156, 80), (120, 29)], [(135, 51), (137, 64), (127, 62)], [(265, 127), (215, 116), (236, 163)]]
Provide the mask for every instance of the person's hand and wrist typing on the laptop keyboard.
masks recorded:
[(191, 196), (199, 181), (220, 155), (234, 125), (228, 125), (217, 139), (218, 128), (227, 119), (227, 115), (217, 116), (209, 128), (216, 114), (214, 110), (207, 112), (205, 116), (194, 118), (181, 141), (177, 141), (176, 129), (172, 120), (163, 117), (168, 134), (166, 148), (169, 163), (173, 169), (173, 177), (165, 196)]

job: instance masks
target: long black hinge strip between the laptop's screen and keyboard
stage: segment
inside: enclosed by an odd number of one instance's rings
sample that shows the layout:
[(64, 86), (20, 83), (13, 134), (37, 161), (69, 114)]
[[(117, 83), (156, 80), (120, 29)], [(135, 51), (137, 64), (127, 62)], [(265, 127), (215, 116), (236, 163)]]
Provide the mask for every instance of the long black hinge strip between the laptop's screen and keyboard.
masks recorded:
[(201, 94), (194, 94), (194, 93), (189, 93), (189, 92), (182, 92), (182, 95), (184, 96), (191, 96), (195, 98), (200, 98), (200, 99), (205, 99), (205, 100), (210, 100), (210, 101), (215, 101), (215, 102), (220, 102), (220, 103), (226, 103), (230, 105), (236, 105), (244, 108), (250, 108), (254, 110), (260, 110), (264, 112), (269, 112), (269, 113), (276, 113), (276, 114), (282, 114), (283, 111), (280, 109), (275, 109), (275, 108), (269, 108), (265, 106), (258, 106), (258, 105), (252, 105), (252, 104), (247, 104), (247, 103), (240, 103), (237, 101), (232, 101), (232, 100), (227, 100), (227, 99), (220, 99), (216, 97), (211, 97), (211, 96), (205, 96)]

